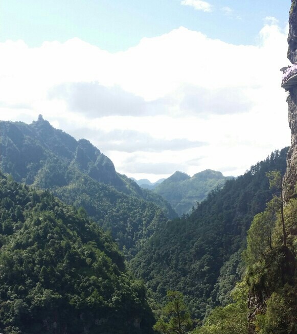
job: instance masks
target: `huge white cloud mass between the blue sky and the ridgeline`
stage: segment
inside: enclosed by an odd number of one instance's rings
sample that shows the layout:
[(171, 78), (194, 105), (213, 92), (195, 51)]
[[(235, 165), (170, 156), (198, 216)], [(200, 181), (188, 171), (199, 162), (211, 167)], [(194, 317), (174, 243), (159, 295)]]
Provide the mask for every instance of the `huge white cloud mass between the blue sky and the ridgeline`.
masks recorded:
[(255, 46), (182, 27), (114, 54), (78, 38), (39, 48), (0, 43), (0, 119), (41, 113), (136, 178), (174, 167), (237, 175), (290, 143), (279, 71), (288, 63), (286, 34), (270, 19)]

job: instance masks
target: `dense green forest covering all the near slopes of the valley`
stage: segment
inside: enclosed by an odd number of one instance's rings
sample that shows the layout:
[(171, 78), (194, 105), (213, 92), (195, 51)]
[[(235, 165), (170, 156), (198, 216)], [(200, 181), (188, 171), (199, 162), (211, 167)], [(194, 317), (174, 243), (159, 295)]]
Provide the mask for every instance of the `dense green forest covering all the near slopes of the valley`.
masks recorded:
[[(150, 333), (156, 316), (154, 328), (165, 334), (295, 330), (296, 204), (283, 208), (279, 195), (287, 148), (237, 179), (211, 170), (194, 175), (215, 189), (177, 218), (95, 146), (42, 117), (30, 125), (0, 122), (0, 129), (1, 168), (10, 174), (0, 174), (5, 334)], [(176, 197), (176, 182), (189, 180), (175, 173), (159, 187)]]

